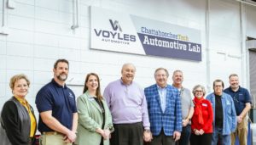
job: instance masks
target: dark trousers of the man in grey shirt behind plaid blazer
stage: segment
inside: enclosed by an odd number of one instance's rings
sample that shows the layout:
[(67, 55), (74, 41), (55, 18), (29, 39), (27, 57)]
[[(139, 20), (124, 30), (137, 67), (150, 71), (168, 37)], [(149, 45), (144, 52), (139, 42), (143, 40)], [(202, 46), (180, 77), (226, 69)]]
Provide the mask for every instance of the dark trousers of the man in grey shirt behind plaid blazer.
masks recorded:
[(191, 125), (183, 127), (180, 139), (176, 142), (176, 145), (189, 145), (189, 138), (191, 134)]

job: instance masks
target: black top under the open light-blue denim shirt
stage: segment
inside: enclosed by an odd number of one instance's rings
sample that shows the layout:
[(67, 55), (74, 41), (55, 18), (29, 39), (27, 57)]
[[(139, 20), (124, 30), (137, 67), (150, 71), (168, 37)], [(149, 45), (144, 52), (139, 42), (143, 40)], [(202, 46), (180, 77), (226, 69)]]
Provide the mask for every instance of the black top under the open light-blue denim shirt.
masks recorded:
[(215, 126), (223, 127), (223, 107), (221, 96), (215, 95)]

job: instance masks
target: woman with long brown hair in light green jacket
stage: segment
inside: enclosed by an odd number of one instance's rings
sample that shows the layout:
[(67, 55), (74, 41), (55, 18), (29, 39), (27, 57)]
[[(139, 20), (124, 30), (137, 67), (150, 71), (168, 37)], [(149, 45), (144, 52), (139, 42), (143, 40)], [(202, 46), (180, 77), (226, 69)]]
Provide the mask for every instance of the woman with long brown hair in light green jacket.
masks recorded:
[(98, 75), (90, 73), (86, 76), (83, 93), (77, 100), (79, 125), (76, 144), (108, 145), (113, 123), (101, 94)]

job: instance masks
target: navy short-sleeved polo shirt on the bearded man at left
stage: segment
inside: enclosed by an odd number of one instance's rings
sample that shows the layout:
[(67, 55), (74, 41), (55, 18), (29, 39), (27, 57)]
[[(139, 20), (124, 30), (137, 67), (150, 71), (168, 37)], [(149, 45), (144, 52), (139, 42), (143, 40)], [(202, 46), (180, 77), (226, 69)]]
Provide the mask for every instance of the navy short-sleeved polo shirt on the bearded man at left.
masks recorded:
[[(42, 87), (37, 94), (36, 104), (38, 112), (52, 111), (52, 116), (58, 120), (61, 125), (72, 130), (73, 113), (77, 112), (75, 95), (66, 85), (60, 86), (54, 79)], [(38, 131), (53, 131), (44, 124), (39, 115)]]

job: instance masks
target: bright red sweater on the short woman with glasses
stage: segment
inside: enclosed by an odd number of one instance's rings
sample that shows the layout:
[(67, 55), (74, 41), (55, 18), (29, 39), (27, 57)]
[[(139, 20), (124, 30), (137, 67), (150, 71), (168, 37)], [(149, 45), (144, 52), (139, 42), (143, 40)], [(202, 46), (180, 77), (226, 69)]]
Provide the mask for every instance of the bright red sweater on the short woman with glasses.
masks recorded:
[[(196, 99), (196, 98), (195, 98)], [(203, 130), (205, 133), (212, 133), (212, 121), (213, 121), (213, 110), (212, 104), (207, 100), (202, 98), (201, 101), (201, 111), (202, 111), (202, 118), (204, 120), (204, 124), (201, 125), (198, 121), (198, 114), (194, 113), (191, 119), (191, 130), (192, 133), (195, 133), (194, 130)], [(193, 100), (195, 102), (195, 100)], [(195, 104), (196, 105), (196, 104)], [(194, 107), (195, 109), (195, 107)]]

